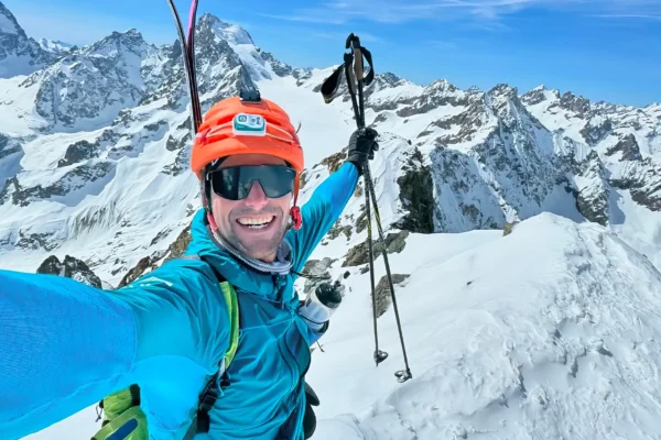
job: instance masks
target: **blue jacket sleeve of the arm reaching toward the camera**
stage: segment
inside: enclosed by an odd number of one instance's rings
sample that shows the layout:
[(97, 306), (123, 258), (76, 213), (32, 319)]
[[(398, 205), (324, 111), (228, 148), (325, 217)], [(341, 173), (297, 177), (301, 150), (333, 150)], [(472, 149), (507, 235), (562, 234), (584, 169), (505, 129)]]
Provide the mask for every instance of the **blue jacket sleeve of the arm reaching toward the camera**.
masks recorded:
[(183, 267), (195, 263), (173, 261), (115, 292), (0, 271), (0, 438), (35, 432), (149, 381), (137, 366), (159, 358), (186, 358), (212, 374), (219, 350), (209, 338), (227, 338), (229, 320), (224, 301), (206, 304), (219, 297), (204, 295), (215, 278)]

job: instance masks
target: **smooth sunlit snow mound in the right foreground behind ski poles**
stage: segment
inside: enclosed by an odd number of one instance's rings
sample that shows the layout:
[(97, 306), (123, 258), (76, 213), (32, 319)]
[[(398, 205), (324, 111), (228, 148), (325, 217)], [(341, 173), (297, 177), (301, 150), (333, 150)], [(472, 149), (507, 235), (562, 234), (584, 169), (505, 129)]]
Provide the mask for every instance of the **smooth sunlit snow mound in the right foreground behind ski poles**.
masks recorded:
[(395, 287), (414, 375), (403, 385), (392, 310), (377, 369), (369, 278), (351, 274), (307, 374), (321, 418), (351, 416), (322, 420), (318, 438), (658, 438), (661, 274), (606, 229), (548, 213), (480, 234), (412, 238), (390, 256), (411, 273)]

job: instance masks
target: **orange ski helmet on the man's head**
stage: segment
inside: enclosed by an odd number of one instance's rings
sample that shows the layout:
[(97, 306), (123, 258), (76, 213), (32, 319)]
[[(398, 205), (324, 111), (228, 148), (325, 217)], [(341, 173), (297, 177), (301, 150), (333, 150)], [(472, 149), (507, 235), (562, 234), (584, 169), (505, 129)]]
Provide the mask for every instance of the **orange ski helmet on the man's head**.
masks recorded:
[[(257, 130), (237, 130), (243, 116), (261, 117)], [(245, 118), (243, 118), (245, 120)], [(239, 97), (224, 99), (209, 109), (193, 142), (191, 169), (202, 179), (204, 167), (232, 154), (270, 154), (288, 162), (296, 170), (295, 193), (303, 172), (303, 148), (289, 116), (268, 99), (242, 101)]]

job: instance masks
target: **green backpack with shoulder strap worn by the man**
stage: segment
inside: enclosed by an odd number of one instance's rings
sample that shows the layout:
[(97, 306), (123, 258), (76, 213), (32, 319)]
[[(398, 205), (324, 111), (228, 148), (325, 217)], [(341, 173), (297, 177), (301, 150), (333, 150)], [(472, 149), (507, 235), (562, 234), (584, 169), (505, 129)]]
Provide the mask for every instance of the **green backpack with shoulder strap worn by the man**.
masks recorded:
[[(199, 255), (184, 255), (178, 260), (204, 261)], [(229, 369), (239, 345), (239, 306), (237, 293), (231, 284), (212, 264), (209, 264), (209, 267), (218, 278), (219, 288), (229, 311), (229, 348), (220, 361), (218, 371), (199, 394), (197, 414), (193, 419), (191, 428), (186, 431), (184, 440), (192, 440), (195, 435), (209, 431), (209, 411), (219, 396), (218, 380), (221, 381), (220, 387), (227, 385), (225, 373)], [(106, 396), (99, 402), (98, 407), (104, 411), (104, 422), (101, 429), (91, 440), (149, 440), (147, 417), (140, 408), (140, 386), (138, 384)], [(97, 421), (101, 418), (100, 413), (98, 413), (98, 416)]]

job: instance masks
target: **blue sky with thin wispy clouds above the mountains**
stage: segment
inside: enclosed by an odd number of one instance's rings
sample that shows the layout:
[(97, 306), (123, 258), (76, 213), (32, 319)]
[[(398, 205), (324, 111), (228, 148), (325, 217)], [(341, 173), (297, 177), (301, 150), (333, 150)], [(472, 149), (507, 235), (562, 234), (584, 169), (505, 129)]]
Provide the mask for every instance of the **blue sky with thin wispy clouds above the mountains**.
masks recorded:
[[(165, 0), (0, 0), (33, 37), (93, 43), (136, 28), (172, 43)], [(460, 88), (541, 84), (593, 101), (661, 102), (661, 0), (199, 0), (296, 67), (342, 62), (350, 32), (378, 73)], [(177, 1), (186, 16), (189, 2)]]

